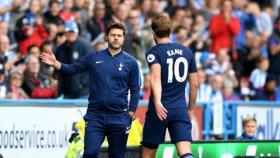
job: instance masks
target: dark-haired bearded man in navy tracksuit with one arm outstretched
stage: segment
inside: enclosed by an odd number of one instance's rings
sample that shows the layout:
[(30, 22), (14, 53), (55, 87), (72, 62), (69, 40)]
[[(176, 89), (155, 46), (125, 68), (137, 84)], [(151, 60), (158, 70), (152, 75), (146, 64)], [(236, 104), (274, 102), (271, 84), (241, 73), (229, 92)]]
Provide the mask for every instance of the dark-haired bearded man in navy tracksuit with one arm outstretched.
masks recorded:
[(141, 83), (137, 61), (122, 51), (124, 35), (125, 27), (122, 24), (110, 24), (106, 30), (108, 49), (87, 54), (73, 64), (60, 63), (50, 50), (41, 56), (43, 62), (63, 73), (74, 75), (88, 71), (90, 74), (89, 105), (84, 116), (84, 158), (98, 157), (105, 136), (109, 143), (109, 157), (125, 157)]

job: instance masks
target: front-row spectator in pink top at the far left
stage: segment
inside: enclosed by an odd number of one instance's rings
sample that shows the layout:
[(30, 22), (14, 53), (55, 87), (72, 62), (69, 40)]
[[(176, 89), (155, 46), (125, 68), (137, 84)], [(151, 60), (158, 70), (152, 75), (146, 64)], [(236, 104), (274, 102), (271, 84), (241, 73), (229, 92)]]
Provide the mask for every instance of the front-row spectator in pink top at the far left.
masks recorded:
[(23, 83), (23, 73), (20, 69), (15, 68), (11, 71), (9, 86), (6, 98), (9, 99), (28, 99), (28, 95), (21, 88)]

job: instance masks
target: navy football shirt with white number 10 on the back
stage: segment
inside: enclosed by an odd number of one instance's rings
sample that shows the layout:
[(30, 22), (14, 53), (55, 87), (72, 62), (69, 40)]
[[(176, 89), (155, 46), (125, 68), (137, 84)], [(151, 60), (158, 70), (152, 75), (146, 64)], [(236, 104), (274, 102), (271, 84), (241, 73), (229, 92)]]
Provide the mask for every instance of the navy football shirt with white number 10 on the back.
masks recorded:
[[(186, 107), (185, 87), (188, 74), (196, 72), (195, 60), (187, 47), (177, 43), (158, 44), (147, 51), (149, 66), (160, 64), (162, 104), (166, 108)], [(149, 110), (154, 110), (153, 94)]]

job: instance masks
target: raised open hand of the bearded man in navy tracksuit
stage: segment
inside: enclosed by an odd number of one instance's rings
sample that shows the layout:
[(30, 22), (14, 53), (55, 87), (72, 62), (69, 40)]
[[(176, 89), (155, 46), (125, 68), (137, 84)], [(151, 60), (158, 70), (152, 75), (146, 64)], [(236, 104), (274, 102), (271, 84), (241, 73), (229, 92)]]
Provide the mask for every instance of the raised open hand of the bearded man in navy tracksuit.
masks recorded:
[(61, 63), (56, 60), (51, 50), (44, 50), (40, 58), (44, 63), (54, 66), (57, 70), (61, 68)]

